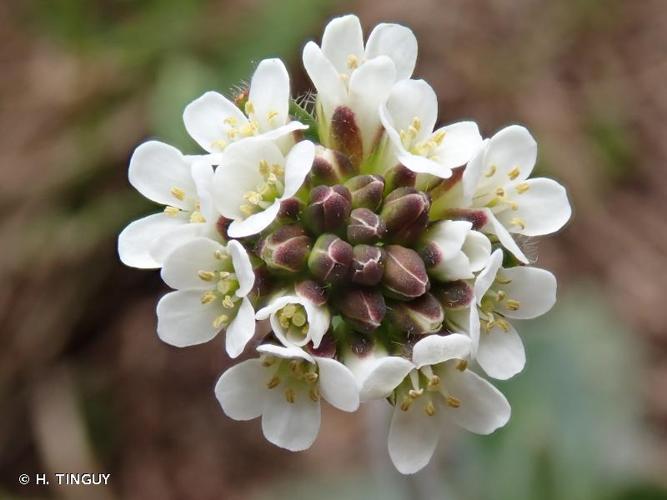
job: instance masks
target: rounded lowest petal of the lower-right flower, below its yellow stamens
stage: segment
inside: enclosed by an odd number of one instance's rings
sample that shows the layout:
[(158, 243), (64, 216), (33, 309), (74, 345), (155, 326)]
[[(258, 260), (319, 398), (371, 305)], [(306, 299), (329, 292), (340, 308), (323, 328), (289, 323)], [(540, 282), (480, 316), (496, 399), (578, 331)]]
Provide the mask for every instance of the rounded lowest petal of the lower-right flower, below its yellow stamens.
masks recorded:
[(514, 327), (509, 325), (506, 332), (496, 326), (484, 333), (477, 350), (477, 362), (489, 377), (499, 380), (507, 380), (523, 370), (526, 352)]

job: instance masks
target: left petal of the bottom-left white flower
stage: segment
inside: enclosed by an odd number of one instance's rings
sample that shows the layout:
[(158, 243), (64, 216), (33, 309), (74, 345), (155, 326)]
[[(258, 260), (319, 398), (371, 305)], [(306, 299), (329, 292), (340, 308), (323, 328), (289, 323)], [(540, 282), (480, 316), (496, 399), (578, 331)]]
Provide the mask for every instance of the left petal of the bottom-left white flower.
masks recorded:
[(229, 418), (252, 420), (264, 409), (267, 381), (262, 362), (248, 359), (222, 374), (215, 384), (215, 396)]

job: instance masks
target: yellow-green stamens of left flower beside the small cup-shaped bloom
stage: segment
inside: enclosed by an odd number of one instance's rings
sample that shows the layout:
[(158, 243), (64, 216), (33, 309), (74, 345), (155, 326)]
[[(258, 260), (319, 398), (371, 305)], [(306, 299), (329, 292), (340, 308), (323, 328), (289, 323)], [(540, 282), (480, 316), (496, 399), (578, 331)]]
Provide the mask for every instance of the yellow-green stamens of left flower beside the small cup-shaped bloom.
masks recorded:
[(229, 253), (216, 250), (214, 255), (220, 262), (218, 269), (202, 270), (197, 275), (200, 280), (211, 284), (211, 289), (202, 294), (201, 303), (203, 305), (217, 304), (222, 308), (223, 313), (213, 320), (213, 326), (223, 328), (227, 327), (236, 316), (236, 311), (240, 306), (241, 297), (234, 293), (239, 289), (239, 280), (234, 273), (234, 265)]

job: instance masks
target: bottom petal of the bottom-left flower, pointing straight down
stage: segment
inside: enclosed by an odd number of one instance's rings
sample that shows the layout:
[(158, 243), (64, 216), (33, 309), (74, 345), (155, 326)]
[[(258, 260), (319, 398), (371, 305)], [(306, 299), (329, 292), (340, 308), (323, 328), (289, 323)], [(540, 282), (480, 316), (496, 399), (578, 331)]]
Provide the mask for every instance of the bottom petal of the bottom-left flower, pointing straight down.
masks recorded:
[(262, 431), (271, 443), (290, 451), (310, 448), (320, 430), (320, 403), (308, 394), (296, 394), (289, 403), (281, 386), (268, 391), (262, 411)]

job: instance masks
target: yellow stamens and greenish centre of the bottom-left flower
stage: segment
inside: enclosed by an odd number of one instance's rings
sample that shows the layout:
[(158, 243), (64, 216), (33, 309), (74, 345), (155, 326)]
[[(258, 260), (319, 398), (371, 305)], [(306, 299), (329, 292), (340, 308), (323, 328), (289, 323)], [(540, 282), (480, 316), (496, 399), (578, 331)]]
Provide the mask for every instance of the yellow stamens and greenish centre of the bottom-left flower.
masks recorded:
[(312, 401), (320, 400), (317, 365), (302, 359), (283, 359), (262, 355), (262, 366), (269, 372), (266, 387), (281, 389), (288, 403), (307, 395)]

